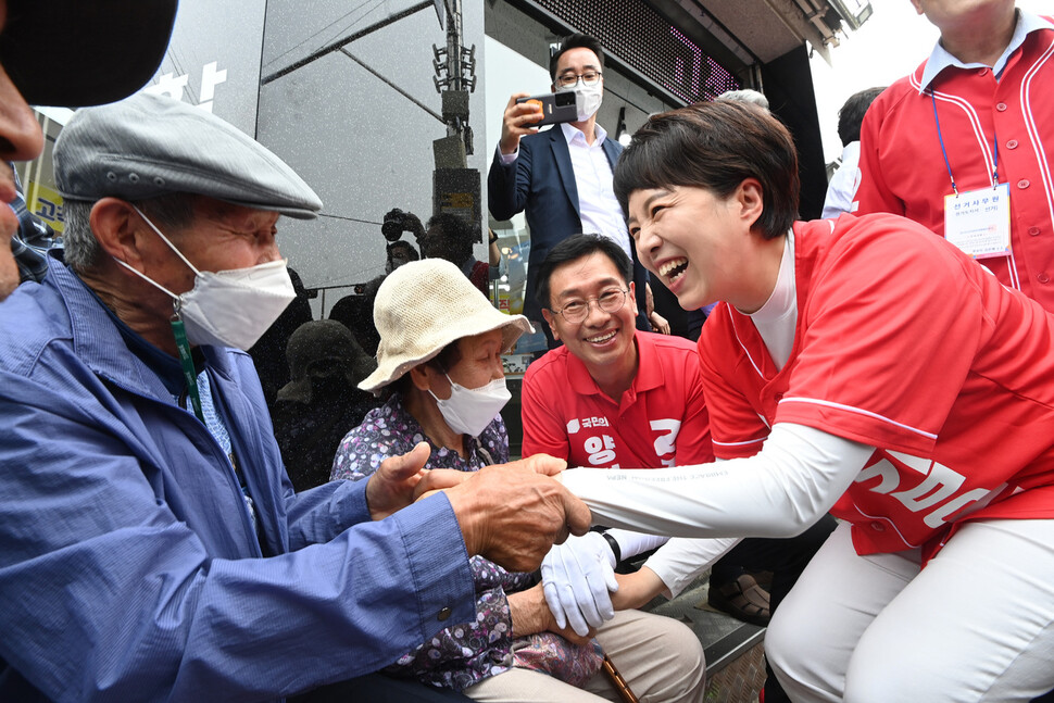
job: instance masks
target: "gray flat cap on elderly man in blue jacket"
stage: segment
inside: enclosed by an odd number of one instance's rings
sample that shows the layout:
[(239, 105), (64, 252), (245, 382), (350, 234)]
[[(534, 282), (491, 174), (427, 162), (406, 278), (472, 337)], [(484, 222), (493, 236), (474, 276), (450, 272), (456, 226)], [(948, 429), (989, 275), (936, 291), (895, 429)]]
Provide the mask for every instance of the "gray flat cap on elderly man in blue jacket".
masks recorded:
[(301, 219), (322, 209), (278, 156), (219, 117), (165, 96), (78, 110), (55, 141), (54, 173), (70, 200), (189, 192)]

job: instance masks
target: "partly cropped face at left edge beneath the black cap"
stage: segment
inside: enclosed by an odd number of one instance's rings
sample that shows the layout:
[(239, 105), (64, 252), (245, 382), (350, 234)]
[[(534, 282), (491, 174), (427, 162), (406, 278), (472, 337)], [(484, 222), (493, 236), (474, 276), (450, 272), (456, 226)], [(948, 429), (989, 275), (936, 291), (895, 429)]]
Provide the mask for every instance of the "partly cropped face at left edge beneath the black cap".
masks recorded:
[[(0, 34), (7, 17), (7, 0), (0, 0)], [(29, 161), (36, 159), (41, 149), (43, 134), (40, 125), (0, 66), (0, 162)], [(18, 285), (18, 267), (11, 253), (11, 238), (18, 230), (18, 218), (5, 204), (13, 201), (15, 194), (14, 172), (7, 163), (0, 163), (0, 300)]]

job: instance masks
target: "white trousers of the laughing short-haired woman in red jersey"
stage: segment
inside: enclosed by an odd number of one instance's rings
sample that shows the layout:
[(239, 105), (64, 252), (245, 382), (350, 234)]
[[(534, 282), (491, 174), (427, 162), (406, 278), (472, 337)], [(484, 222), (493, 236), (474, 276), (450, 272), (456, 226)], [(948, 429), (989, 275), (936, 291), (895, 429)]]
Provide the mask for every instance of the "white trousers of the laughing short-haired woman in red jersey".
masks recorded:
[(835, 530), (773, 616), (794, 701), (1029, 701), (1054, 688), (1054, 520), (968, 523), (925, 569)]

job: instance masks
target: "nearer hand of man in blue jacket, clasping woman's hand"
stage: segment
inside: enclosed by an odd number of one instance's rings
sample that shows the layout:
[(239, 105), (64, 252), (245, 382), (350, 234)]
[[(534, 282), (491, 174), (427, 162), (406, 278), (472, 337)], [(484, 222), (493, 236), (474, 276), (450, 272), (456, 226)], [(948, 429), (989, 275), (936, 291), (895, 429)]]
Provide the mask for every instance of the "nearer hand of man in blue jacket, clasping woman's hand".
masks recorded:
[(469, 554), (532, 572), (554, 542), (589, 529), (586, 504), (536, 470), (552, 470), (553, 462), (563, 463), (548, 456), (487, 466), (446, 491)]

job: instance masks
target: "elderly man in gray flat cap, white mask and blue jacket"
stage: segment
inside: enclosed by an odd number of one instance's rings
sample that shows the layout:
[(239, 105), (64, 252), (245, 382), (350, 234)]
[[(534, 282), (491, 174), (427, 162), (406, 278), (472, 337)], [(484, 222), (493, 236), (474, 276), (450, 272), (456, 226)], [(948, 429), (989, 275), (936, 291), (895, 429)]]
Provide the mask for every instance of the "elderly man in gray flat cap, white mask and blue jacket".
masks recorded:
[(271, 700), (369, 674), (473, 619), (451, 554), (525, 570), (586, 529), (551, 457), (410, 505), (417, 447), (294, 493), (240, 350), (292, 298), (279, 216), (318, 198), (158, 96), (79, 111), (54, 156), (66, 249), (0, 305), (0, 700)]

